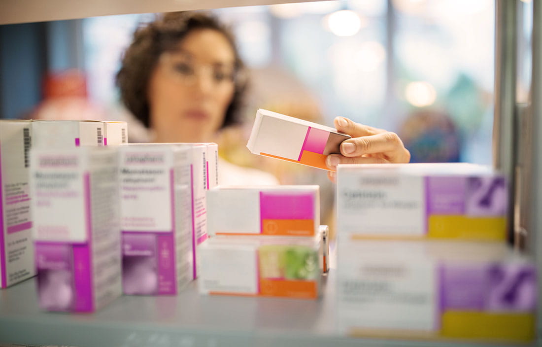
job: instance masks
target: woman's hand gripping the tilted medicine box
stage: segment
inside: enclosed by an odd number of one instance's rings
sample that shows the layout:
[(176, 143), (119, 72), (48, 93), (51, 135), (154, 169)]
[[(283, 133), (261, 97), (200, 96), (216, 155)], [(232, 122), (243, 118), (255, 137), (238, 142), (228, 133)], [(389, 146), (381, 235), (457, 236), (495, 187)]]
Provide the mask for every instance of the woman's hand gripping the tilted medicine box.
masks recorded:
[[(337, 164), (408, 163), (410, 152), (396, 133), (356, 123), (348, 118), (337, 117), (335, 128), (352, 136), (340, 145), (341, 155), (327, 156), (327, 167), (337, 169)], [(335, 182), (335, 172), (327, 176)]]

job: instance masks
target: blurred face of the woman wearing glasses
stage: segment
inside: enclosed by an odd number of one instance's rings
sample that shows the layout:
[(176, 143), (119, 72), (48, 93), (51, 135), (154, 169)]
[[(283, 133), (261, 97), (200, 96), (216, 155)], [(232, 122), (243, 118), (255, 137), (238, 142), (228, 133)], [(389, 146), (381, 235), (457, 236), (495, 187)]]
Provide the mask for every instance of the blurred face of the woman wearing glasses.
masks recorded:
[(235, 53), (220, 31), (191, 31), (163, 53), (147, 96), (156, 142), (211, 142), (235, 86)]

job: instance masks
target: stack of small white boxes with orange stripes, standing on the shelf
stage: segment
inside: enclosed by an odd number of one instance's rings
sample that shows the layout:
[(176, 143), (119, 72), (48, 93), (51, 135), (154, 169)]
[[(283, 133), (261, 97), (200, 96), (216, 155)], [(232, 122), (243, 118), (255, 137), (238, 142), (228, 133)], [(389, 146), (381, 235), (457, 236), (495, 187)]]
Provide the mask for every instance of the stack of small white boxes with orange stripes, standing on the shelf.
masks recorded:
[(317, 185), (218, 186), (207, 202), (202, 294), (319, 297), (328, 245)]

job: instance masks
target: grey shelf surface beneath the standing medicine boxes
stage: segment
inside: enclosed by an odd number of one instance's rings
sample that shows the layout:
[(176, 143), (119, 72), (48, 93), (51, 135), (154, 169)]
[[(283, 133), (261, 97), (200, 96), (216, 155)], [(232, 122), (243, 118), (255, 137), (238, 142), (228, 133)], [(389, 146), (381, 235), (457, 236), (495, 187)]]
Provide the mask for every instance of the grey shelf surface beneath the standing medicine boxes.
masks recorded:
[(334, 273), (318, 301), (202, 296), (193, 282), (169, 297), (123, 296), (92, 314), (43, 312), (36, 281), (0, 291), (0, 345), (80, 347), (488, 346), (458, 342), (359, 339), (334, 329)]

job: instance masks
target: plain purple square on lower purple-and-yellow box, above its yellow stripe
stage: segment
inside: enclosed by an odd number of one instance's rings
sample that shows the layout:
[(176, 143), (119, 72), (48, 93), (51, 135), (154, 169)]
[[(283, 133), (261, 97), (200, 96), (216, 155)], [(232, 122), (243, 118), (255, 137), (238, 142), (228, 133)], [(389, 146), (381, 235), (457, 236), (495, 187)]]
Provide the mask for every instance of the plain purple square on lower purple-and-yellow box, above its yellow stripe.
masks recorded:
[(480, 265), (443, 265), (441, 267), (441, 309), (475, 310), (485, 307), (486, 267)]

